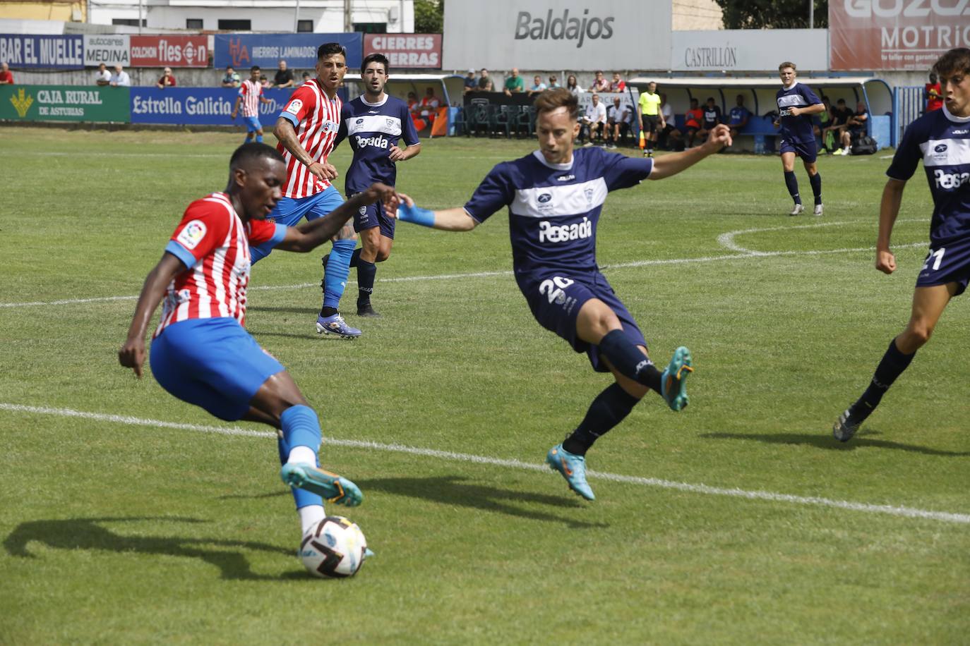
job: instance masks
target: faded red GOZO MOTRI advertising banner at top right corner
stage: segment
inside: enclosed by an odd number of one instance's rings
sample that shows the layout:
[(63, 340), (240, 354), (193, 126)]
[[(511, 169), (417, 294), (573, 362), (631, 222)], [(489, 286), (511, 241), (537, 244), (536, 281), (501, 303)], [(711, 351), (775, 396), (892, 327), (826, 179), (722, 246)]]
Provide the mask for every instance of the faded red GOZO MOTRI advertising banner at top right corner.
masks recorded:
[(830, 0), (832, 70), (929, 70), (970, 46), (968, 0)]

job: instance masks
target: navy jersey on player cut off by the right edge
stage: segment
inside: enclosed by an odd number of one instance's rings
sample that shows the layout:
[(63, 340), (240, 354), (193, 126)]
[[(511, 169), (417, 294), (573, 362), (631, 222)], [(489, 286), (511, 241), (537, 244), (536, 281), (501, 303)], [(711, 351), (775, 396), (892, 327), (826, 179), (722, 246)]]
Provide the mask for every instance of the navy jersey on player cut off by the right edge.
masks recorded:
[(920, 160), (933, 196), (930, 246), (970, 236), (970, 116), (946, 106), (923, 114), (906, 128), (886, 174), (906, 181)]

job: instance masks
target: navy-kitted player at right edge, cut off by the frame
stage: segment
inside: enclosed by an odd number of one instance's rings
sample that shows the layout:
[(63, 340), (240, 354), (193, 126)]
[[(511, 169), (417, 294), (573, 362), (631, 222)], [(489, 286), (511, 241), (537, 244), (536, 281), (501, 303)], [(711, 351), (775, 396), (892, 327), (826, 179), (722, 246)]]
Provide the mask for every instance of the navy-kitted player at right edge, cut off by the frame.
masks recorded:
[(832, 433), (841, 442), (848, 442), (879, 406), (889, 386), (929, 340), (950, 299), (970, 282), (970, 49), (951, 49), (936, 61), (933, 72), (940, 77), (944, 105), (906, 128), (886, 171), (876, 268), (887, 274), (896, 270), (889, 237), (906, 181), (920, 160), (933, 196), (929, 254), (916, 281), (906, 329), (889, 342), (869, 387), (835, 422)]

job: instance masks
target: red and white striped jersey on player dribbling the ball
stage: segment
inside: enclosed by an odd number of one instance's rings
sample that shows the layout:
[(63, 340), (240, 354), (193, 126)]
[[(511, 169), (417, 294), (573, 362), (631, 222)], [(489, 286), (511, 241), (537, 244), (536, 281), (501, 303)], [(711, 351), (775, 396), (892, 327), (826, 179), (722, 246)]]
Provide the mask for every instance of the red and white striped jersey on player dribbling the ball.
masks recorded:
[(189, 319), (232, 317), (244, 324), (249, 244), (281, 239), (280, 229), (285, 234), (285, 227), (266, 220), (243, 224), (224, 193), (189, 204), (165, 249), (186, 266), (192, 264), (169, 283), (152, 338), (167, 325)]

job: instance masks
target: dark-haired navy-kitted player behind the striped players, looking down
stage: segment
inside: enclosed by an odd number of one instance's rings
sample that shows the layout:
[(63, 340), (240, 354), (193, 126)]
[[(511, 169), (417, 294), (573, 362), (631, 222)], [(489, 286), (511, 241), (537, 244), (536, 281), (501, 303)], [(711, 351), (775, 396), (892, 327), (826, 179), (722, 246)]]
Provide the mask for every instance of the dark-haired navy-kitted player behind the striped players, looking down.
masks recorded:
[[(364, 94), (340, 110), (340, 130), (334, 145), (346, 138), (354, 151), (354, 159), (347, 169), (347, 198), (366, 190), (375, 181), (394, 186), (398, 174), (395, 164), (421, 152), (421, 141), (407, 104), (384, 93), (389, 64), (383, 54), (368, 55), (361, 66)], [(398, 147), (401, 138), (405, 148)], [(350, 259), (350, 266), (357, 267), (357, 316), (380, 316), (371, 305), (377, 273), (375, 263), (391, 256), (394, 224), (394, 218), (384, 213), (380, 202), (354, 213), (354, 231), (360, 233), (362, 244)]]

